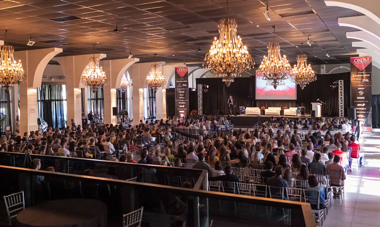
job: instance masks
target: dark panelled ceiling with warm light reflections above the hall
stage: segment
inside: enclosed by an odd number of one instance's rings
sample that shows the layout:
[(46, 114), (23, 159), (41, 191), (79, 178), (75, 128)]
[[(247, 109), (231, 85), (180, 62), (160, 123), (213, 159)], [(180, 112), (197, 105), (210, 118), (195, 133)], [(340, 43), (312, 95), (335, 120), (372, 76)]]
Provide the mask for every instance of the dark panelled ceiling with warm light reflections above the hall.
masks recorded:
[[(263, 15), (265, 4), (271, 21)], [(323, 0), (229, 0), (228, 12), (226, 0), (0, 1), (0, 29), (9, 30), (16, 51), (60, 47), (59, 56), (88, 54), (99, 42), (95, 51), (107, 53), (107, 59), (126, 58), (131, 51), (140, 62), (201, 63), (218, 36), (218, 21), (229, 17), (237, 20), (237, 33), (256, 67), (273, 39), (272, 26), (291, 63), (308, 36), (312, 46), (304, 44), (303, 52), (311, 64), (349, 63), (357, 53), (346, 32), (356, 29), (340, 27), (338, 18), (361, 15), (327, 7)], [(119, 33), (113, 32), (116, 25)], [(26, 45), (30, 36), (36, 41), (31, 47)]]

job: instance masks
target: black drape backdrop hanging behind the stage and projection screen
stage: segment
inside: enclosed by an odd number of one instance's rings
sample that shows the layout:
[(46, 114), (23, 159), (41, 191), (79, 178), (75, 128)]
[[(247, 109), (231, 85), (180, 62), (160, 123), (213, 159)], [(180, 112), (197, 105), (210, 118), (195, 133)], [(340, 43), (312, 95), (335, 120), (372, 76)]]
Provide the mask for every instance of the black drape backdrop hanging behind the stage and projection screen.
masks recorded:
[[(338, 87), (331, 89), (330, 85), (336, 80), (344, 80), (345, 116), (350, 105), (350, 73), (340, 74), (320, 74), (317, 80), (307, 85), (303, 90), (297, 86), (297, 100), (256, 100), (256, 80), (255, 77), (236, 78), (229, 87), (226, 87), (221, 78), (198, 78), (198, 84), (207, 84), (209, 89), (203, 93), (203, 113), (214, 114), (217, 109), (219, 114), (228, 113), (227, 99), (229, 95), (234, 97), (236, 112), (239, 106), (269, 106), (274, 107), (297, 107), (304, 106), (305, 112), (310, 113), (311, 102), (320, 99), (326, 104), (322, 105), (323, 116), (339, 116), (339, 91)], [(198, 103), (197, 99), (192, 100), (191, 106)]]

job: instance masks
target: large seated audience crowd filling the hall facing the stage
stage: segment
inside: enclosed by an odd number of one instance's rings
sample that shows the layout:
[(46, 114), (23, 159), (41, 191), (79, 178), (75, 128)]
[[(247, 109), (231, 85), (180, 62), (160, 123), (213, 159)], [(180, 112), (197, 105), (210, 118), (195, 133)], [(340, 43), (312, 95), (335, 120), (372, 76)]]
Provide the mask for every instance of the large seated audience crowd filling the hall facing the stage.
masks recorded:
[[(210, 126), (213, 127), (210, 127)], [(352, 147), (358, 147), (360, 166), (363, 154), (355, 136), (350, 134), (351, 125), (345, 119), (288, 119), (271, 118), (257, 122), (252, 129), (228, 130), (232, 123), (228, 117), (199, 116), (191, 119), (169, 118), (166, 121), (143, 120), (138, 125), (113, 126), (90, 122), (60, 129), (48, 128), (23, 136), (6, 137), (0, 141), (0, 151), (41, 155), (60, 155), (83, 158), (160, 164), (206, 169), (211, 181), (239, 182), (231, 166), (253, 168), (264, 165), (262, 177), (276, 187), (294, 187), (295, 180), (308, 180), (310, 188), (313, 174), (328, 175), (329, 171), (342, 171), (340, 179), (330, 179), (331, 184), (345, 180), (345, 172), (351, 171)], [(205, 130), (198, 138), (181, 138), (178, 129)], [(224, 128), (224, 131), (219, 129)], [(300, 131), (307, 130), (301, 134)], [(337, 130), (340, 130), (337, 132)], [(321, 132), (324, 131), (322, 136)], [(206, 132), (206, 133), (205, 133)], [(157, 138), (157, 139), (153, 139)], [(141, 144), (137, 147), (136, 140)], [(89, 152), (92, 148), (95, 152)], [(134, 157), (139, 150), (140, 157)], [(227, 164), (226, 164), (227, 163)], [(293, 174), (296, 175), (294, 178)], [(335, 192), (335, 198), (340, 192)]]

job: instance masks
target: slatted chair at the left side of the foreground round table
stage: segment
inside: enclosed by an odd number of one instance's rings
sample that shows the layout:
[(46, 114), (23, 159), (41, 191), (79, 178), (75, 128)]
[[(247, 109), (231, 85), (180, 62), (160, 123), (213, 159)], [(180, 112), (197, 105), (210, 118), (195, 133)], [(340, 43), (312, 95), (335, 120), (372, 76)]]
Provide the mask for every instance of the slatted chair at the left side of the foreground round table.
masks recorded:
[(13, 193), (3, 198), (7, 209), (9, 225), (12, 225), (12, 218), (16, 217), (20, 210), (25, 209), (24, 191)]

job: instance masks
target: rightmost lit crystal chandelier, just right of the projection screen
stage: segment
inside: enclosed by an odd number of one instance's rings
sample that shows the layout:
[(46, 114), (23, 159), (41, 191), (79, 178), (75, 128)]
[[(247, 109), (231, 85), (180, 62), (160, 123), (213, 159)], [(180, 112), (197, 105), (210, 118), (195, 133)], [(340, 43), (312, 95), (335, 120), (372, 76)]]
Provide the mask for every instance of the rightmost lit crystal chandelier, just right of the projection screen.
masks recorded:
[(303, 54), (302, 46), (303, 43), (301, 43), (302, 54), (297, 55), (297, 65), (294, 65), (292, 69), (293, 77), (291, 80), (300, 85), (303, 90), (307, 84), (317, 80), (317, 77), (315, 76), (314, 70), (311, 69), (310, 64), (307, 65), (307, 55)]

